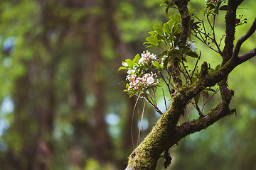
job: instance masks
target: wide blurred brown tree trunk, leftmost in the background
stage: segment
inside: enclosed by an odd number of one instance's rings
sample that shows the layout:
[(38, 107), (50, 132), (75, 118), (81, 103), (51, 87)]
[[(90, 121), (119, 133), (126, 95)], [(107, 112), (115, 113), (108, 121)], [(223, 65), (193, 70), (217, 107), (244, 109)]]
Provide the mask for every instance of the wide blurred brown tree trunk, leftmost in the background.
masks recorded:
[[(43, 2), (43, 1), (41, 1)], [(46, 2), (46, 1), (44, 1)], [(23, 61), (26, 72), (16, 80), (13, 93), (15, 99), (14, 123), (9, 133), (16, 137), (14, 145), (10, 145), (6, 154), (4, 169), (46, 170), (50, 168), (52, 155), (52, 132), (55, 112), (55, 55), (48, 42), (47, 22), (51, 18), (44, 18), (47, 9), (41, 6), (41, 21), (43, 32), (28, 33), (28, 48), (31, 47), (33, 58)], [(48, 11), (49, 12), (49, 11)], [(38, 16), (35, 16), (37, 18)], [(23, 36), (28, 36), (23, 35)], [(25, 37), (24, 37), (25, 38)], [(46, 49), (51, 56), (46, 62), (37, 47)], [(45, 55), (45, 54), (44, 54)]]

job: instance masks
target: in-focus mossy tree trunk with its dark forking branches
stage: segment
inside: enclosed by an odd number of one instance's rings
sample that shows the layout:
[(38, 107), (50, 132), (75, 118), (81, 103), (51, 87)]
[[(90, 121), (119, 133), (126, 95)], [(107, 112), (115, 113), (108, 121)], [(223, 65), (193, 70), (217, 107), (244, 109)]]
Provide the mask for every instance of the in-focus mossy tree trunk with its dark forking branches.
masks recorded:
[[(186, 44), (186, 38), (188, 37), (188, 23), (190, 21), (187, 7), (188, 0), (173, 0), (173, 2), (176, 4), (178, 12), (181, 14), (181, 45), (184, 45)], [(168, 149), (178, 143), (183, 137), (186, 137), (193, 132), (201, 131), (220, 120), (220, 118), (235, 113), (235, 109), (229, 108), (234, 91), (228, 89), (228, 74), (230, 74), (230, 72), (232, 72), (232, 70), (239, 64), (242, 64), (256, 55), (256, 48), (244, 55), (238, 55), (242, 43), (255, 32), (256, 19), (247, 33), (239, 38), (235, 48), (233, 45), (235, 39), (236, 10), (241, 3), (242, 0), (228, 1), (228, 10), (225, 16), (225, 47), (223, 52), (220, 53), (223, 58), (220, 69), (213, 73), (209, 73), (207, 62), (203, 62), (197, 81), (189, 86), (182, 86), (181, 75), (180, 72), (178, 72), (177, 57), (171, 57), (172, 59), (168, 66), (171, 70), (171, 76), (175, 84), (175, 91), (171, 96), (171, 106), (163, 115), (161, 115), (161, 118), (156, 122), (156, 125), (149, 135), (145, 137), (144, 141), (134, 149), (129, 156), (126, 170), (156, 169), (156, 163), (161, 156), (161, 153), (165, 151), (168, 152)], [(177, 125), (188, 102), (203, 89), (214, 86), (215, 84), (218, 84), (220, 88), (220, 103), (218, 103), (215, 108), (212, 108), (206, 115), (201, 115), (196, 120)]]

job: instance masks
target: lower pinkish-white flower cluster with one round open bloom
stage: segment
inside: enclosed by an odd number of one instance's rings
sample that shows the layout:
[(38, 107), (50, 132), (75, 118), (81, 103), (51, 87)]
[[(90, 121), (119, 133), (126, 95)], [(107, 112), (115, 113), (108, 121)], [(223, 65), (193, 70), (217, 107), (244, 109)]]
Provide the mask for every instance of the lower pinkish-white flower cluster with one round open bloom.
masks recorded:
[(136, 74), (132, 74), (127, 79), (129, 80), (129, 88), (128, 91), (137, 91), (139, 92), (144, 91), (149, 86), (156, 86), (159, 84), (159, 80), (156, 79), (157, 75), (153, 72), (144, 74), (143, 77), (137, 77)]

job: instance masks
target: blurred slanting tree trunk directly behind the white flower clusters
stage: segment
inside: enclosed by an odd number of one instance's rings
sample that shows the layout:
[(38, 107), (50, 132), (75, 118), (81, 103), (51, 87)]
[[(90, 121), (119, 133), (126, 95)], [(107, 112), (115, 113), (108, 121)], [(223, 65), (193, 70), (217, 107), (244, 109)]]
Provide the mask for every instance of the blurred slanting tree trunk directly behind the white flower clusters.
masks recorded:
[[(105, 6), (105, 21), (107, 22), (107, 33), (110, 35), (110, 38), (113, 42), (113, 49), (115, 50), (115, 54), (117, 55), (117, 60), (115, 60), (115, 70), (119, 68), (119, 64), (132, 56), (131, 50), (129, 50), (129, 46), (122, 41), (121, 38), (121, 32), (117, 26), (117, 22), (114, 21), (114, 14), (116, 11), (116, 6), (113, 3), (112, 0), (104, 0), (104, 6)], [(119, 76), (122, 77), (122, 79), (125, 79), (126, 74), (119, 73)], [(137, 114), (134, 113), (133, 117), (133, 110), (136, 103), (136, 98), (131, 98), (131, 100), (127, 101), (128, 105), (128, 111), (125, 115), (125, 123), (122, 128), (122, 149), (124, 152), (127, 152), (129, 154), (132, 151), (133, 144), (137, 144)], [(133, 137), (132, 137), (133, 135)], [(134, 141), (132, 141), (132, 138)], [(134, 142), (134, 143), (133, 143)], [(135, 146), (134, 146), (135, 147)], [(127, 155), (124, 154), (124, 155)], [(120, 169), (125, 169), (125, 164), (127, 157), (124, 157), (119, 160), (118, 167)]]

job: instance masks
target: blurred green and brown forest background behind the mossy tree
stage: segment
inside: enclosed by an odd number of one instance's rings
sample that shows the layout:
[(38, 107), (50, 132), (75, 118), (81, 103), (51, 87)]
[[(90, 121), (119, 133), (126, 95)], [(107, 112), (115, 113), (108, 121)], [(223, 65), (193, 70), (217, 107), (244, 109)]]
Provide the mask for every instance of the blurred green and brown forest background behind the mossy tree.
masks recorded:
[[(126, 72), (117, 69), (122, 60), (146, 50), (142, 44), (154, 24), (168, 21), (159, 4), (161, 0), (1, 0), (0, 169), (125, 169), (133, 149), (131, 130), (137, 145), (143, 102), (132, 120), (136, 98), (128, 100), (122, 92), (119, 83)], [(190, 6), (202, 17), (205, 1), (193, 0)], [(240, 7), (238, 15), (247, 24), (238, 26), (236, 39), (256, 17), (256, 1), (245, 0)], [(217, 23), (220, 37), (223, 17)], [(241, 53), (255, 42), (252, 35)], [(205, 45), (196, 41), (196, 47), (202, 61), (219, 64), (220, 57)], [(230, 74), (237, 115), (171, 148), (169, 169), (256, 169), (255, 74), (255, 59)], [(218, 96), (209, 108), (214, 101)], [(189, 114), (193, 118), (196, 112)], [(146, 107), (140, 141), (158, 118)], [(158, 169), (164, 169), (162, 162)]]

